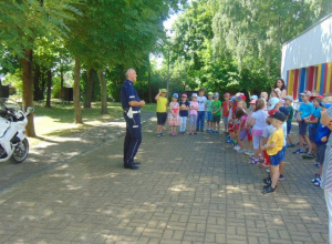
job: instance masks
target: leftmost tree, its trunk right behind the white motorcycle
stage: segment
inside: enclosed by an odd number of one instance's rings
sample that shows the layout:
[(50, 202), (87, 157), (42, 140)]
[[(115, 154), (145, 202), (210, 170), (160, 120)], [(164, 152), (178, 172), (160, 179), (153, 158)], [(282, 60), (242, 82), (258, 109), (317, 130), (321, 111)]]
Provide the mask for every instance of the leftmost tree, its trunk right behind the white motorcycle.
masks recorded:
[[(22, 67), (24, 109), (33, 105), (33, 45), (37, 38), (59, 38), (68, 33), (65, 19), (74, 19), (79, 12), (71, 7), (74, 0), (0, 1), (1, 62), (10, 63), (10, 52)], [(29, 116), (27, 134), (35, 136), (33, 115)]]

